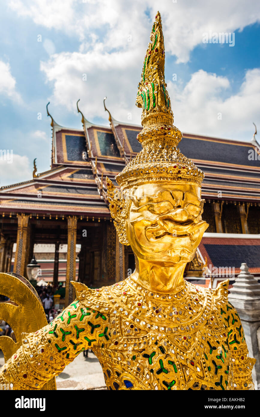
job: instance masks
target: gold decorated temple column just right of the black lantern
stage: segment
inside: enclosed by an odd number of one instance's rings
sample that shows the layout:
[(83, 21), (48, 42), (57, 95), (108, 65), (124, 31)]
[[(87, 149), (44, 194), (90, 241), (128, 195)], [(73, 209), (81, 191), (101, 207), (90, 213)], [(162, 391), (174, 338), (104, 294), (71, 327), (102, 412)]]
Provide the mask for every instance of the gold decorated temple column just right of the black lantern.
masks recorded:
[(75, 298), (74, 288), (71, 281), (76, 279), (76, 239), (77, 239), (77, 220), (76, 216), (68, 216), (68, 254), (66, 271), (66, 295), (65, 306)]

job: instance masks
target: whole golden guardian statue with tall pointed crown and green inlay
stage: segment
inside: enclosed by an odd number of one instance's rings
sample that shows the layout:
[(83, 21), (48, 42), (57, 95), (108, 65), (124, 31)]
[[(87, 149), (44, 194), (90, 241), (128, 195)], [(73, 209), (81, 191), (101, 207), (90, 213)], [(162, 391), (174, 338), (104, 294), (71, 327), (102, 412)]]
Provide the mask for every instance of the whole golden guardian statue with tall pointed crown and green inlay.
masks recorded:
[(177, 148), (164, 80), (159, 12), (151, 31), (136, 104), (142, 107), (140, 153), (107, 178), (109, 208), (136, 269), (100, 289), (73, 282), (76, 300), (42, 329), (22, 334), (22, 345), (0, 371), (13, 389), (40, 389), (91, 348), (110, 390), (253, 389), (255, 359), (248, 355), (228, 281), (217, 289), (186, 282), (202, 220), (202, 171)]

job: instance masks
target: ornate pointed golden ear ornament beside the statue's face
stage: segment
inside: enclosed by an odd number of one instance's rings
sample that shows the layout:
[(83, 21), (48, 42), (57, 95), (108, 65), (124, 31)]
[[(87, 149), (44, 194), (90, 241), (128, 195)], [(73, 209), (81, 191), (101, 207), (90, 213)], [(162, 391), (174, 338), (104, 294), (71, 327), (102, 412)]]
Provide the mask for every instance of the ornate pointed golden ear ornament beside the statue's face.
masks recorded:
[(125, 229), (127, 211), (125, 209), (126, 204), (123, 192), (116, 188), (108, 177), (106, 177), (106, 186), (109, 200), (109, 210), (111, 217), (114, 220), (114, 226), (119, 237), (119, 242), (124, 245), (129, 245)]

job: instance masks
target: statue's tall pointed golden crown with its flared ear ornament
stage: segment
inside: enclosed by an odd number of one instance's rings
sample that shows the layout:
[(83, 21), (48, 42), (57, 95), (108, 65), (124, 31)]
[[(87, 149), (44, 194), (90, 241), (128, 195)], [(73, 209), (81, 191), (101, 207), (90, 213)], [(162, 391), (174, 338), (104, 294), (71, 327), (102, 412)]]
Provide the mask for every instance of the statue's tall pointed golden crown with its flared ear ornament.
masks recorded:
[[(173, 125), (171, 102), (164, 78), (164, 36), (161, 15), (157, 12), (144, 58), (136, 106), (142, 107), (142, 131), (137, 135), (142, 149), (115, 177), (121, 190), (151, 181), (186, 182), (201, 187), (204, 173), (177, 148), (182, 133)], [(107, 178), (109, 208), (121, 243), (129, 244), (124, 222), (128, 199), (116, 193)], [(126, 207), (127, 206), (127, 207)]]

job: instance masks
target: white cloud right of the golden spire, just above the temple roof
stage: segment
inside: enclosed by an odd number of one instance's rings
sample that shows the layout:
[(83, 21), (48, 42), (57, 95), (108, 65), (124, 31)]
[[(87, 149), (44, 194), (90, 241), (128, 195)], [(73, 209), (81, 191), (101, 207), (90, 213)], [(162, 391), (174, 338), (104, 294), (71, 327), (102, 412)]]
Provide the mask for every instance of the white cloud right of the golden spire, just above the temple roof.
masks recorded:
[[(184, 132), (248, 141), (260, 123), (260, 69), (248, 70), (236, 94), (226, 77), (199, 70), (184, 88), (167, 84), (174, 122)], [(225, 98), (223, 98), (225, 97)], [(257, 123), (258, 121), (258, 123)]]

